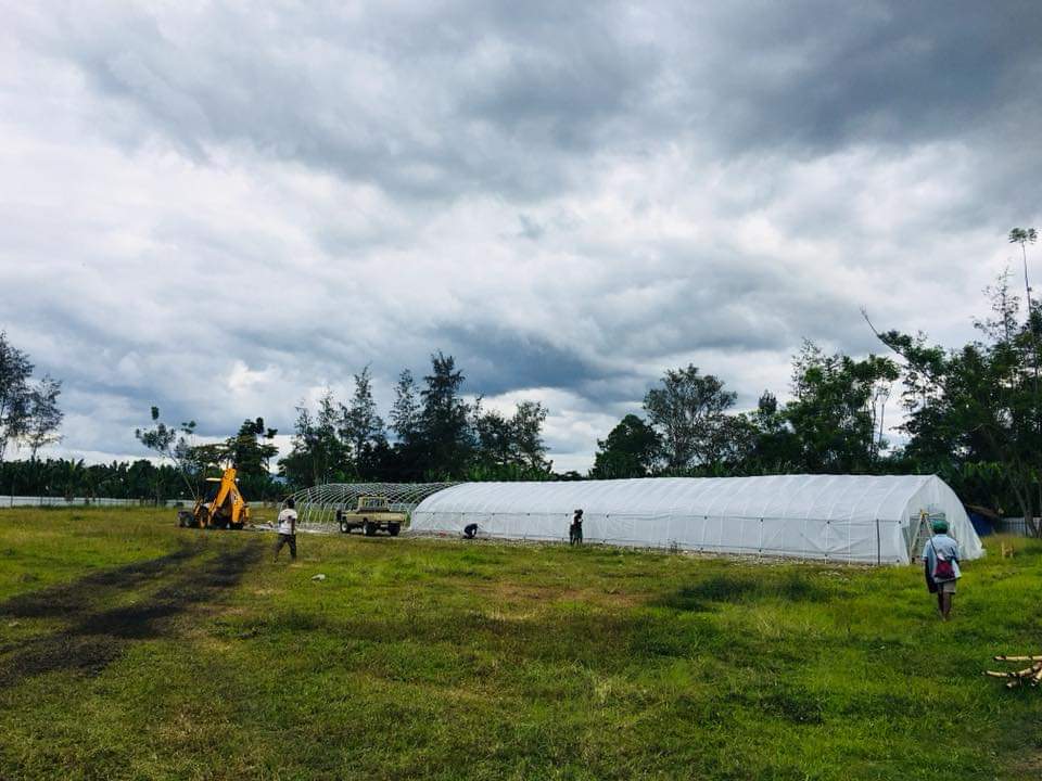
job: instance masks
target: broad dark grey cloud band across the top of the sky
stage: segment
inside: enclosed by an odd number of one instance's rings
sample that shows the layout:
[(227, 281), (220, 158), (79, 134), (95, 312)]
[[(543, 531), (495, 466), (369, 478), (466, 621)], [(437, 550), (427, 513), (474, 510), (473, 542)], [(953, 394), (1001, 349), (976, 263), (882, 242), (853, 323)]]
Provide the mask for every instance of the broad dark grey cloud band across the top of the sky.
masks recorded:
[(576, 155), (691, 136), (735, 153), (813, 155), (1026, 139), (1040, 116), (1042, 7), (1031, 2), (199, 16), (203, 30), (122, 7), (71, 14), (51, 44), (131, 110), (120, 123), (140, 121), (198, 158), (246, 144), (416, 197), (534, 196), (573, 185)]

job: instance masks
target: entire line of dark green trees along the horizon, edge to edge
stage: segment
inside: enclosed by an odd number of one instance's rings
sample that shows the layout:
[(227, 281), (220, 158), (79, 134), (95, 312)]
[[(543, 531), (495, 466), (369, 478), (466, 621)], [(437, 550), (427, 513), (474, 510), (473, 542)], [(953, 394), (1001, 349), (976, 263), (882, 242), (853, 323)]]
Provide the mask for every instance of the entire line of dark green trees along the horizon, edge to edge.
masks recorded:
[[(788, 400), (764, 390), (752, 410), (736, 411), (724, 380), (687, 366), (668, 370), (648, 389), (640, 413), (625, 415), (598, 440), (589, 478), (780, 473), (938, 474), (963, 501), (1027, 518), (1042, 515), (1042, 306), (1032, 300), (1027, 246), (1033, 229), (1014, 229), (1021, 249), (1025, 299), (1007, 269), (987, 290), (989, 313), (976, 337), (957, 348), (924, 333), (877, 330), (882, 355), (827, 354), (804, 342), (793, 356)], [(138, 439), (164, 465), (39, 461), (59, 438), (61, 383), (31, 381), (28, 356), (0, 333), (0, 490), (116, 498), (189, 497), (215, 466), (236, 464), (247, 497), (274, 497), (329, 482), (579, 479), (552, 472), (543, 439), (547, 410), (521, 401), (510, 414), (468, 400), (453, 356), (431, 356), (417, 381), (403, 370), (381, 415), (365, 368), (344, 401), (326, 390), (296, 408), (292, 447), (277, 463), (277, 432), (262, 418), (216, 444), (194, 443), (196, 424), (161, 420)], [(886, 411), (897, 394), (900, 439), (888, 441)], [(10, 443), (27, 461), (3, 461)], [(78, 486), (74, 489), (74, 487)], [(1034, 528), (1035, 534), (1042, 529)]]

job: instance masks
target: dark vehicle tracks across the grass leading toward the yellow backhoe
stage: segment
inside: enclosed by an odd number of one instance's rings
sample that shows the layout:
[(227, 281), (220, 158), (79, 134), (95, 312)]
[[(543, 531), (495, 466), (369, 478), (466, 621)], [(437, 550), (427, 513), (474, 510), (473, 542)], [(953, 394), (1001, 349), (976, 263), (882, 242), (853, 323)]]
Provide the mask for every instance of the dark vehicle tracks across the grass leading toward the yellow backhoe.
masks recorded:
[[(0, 662), (0, 687), (58, 670), (97, 674), (136, 640), (176, 631), (174, 619), (236, 586), (262, 553), (251, 540), (242, 548), (198, 561), (199, 547), (16, 597), (0, 604), (0, 616), (64, 618), (68, 624), (15, 648)], [(128, 605), (104, 609), (119, 593), (155, 581), (154, 593)]]

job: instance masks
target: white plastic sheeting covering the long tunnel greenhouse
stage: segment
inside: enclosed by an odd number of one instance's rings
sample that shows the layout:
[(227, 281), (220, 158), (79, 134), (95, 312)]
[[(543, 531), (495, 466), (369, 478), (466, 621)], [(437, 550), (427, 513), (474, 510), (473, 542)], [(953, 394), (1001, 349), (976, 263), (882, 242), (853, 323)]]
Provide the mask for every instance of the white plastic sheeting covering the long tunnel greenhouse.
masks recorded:
[(955, 492), (933, 475), (653, 477), (560, 483), (466, 483), (424, 499), (414, 533), (564, 540), (583, 510), (587, 542), (908, 563), (922, 511), (943, 512), (964, 559), (983, 554)]

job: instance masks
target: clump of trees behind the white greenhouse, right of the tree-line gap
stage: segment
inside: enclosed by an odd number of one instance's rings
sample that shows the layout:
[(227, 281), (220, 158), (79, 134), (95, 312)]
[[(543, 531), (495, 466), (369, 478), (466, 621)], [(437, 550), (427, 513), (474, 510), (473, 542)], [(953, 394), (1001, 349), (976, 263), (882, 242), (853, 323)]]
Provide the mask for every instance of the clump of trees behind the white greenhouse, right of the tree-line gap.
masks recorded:
[[(736, 394), (695, 366), (666, 371), (643, 414), (627, 414), (598, 440), (590, 476), (728, 476), (783, 473), (937, 474), (968, 504), (1028, 518), (1042, 529), (1042, 306), (1025, 305), (1007, 268), (986, 293), (990, 312), (957, 348), (924, 333), (878, 331), (886, 355), (827, 355), (805, 342), (792, 359), (790, 399), (765, 390), (735, 412)], [(890, 446), (885, 411), (894, 392), (902, 441)]]

